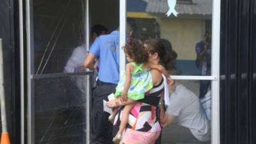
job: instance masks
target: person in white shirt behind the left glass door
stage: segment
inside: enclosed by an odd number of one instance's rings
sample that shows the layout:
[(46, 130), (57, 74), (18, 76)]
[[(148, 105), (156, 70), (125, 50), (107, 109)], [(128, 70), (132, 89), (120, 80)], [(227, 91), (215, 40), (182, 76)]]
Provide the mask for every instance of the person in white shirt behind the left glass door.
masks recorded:
[[(97, 24), (92, 27), (92, 40), (95, 39), (95, 36), (104, 35), (108, 32), (105, 26)], [(68, 58), (68, 61), (64, 67), (63, 72), (83, 72), (83, 61), (86, 56), (86, 47), (85, 45), (80, 45), (76, 47)], [(92, 76), (92, 85), (95, 86), (95, 81), (97, 77), (97, 70), (93, 70)], [(67, 79), (67, 107), (74, 104), (84, 104), (85, 101), (85, 83), (86, 76), (70, 77)], [(92, 86), (92, 87), (93, 87)]]

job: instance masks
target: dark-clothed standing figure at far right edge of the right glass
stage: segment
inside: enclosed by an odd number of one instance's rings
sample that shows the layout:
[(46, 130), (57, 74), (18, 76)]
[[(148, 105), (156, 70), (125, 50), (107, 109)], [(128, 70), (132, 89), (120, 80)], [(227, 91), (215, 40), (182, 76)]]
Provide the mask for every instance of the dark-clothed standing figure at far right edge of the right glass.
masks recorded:
[[(200, 70), (200, 75), (211, 75), (211, 35), (208, 31), (205, 32), (204, 40), (196, 43), (196, 67)], [(205, 93), (210, 88), (211, 81), (200, 81), (199, 98), (204, 97)]]

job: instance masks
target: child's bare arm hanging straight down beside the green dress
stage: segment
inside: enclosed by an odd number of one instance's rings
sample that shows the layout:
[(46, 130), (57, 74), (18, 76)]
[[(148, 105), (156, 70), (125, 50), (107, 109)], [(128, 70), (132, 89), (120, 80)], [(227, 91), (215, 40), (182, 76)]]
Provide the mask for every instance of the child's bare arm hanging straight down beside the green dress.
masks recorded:
[(126, 101), (127, 100), (127, 92), (130, 87), (131, 83), (131, 63), (127, 63), (126, 68), (125, 68), (125, 83), (124, 83), (124, 90), (122, 92), (122, 100)]

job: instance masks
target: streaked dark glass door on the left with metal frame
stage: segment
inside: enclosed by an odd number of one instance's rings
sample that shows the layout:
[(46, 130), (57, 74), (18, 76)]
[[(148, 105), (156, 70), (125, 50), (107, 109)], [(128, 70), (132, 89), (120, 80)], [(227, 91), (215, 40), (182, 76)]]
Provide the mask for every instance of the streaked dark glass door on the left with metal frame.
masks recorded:
[(88, 143), (90, 75), (86, 0), (26, 1), (27, 141)]

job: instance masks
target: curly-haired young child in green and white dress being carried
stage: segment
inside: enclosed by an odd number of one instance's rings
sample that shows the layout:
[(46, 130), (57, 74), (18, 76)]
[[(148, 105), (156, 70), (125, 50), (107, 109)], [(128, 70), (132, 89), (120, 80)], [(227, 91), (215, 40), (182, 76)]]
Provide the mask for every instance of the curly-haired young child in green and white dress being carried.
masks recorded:
[[(125, 101), (125, 108), (122, 112), (121, 124), (113, 142), (119, 143), (122, 132), (128, 123), (129, 113), (136, 104), (136, 100), (144, 99), (145, 92), (153, 87), (150, 68), (156, 68), (168, 77), (168, 72), (161, 65), (150, 65), (148, 63), (148, 52), (137, 40), (129, 39), (124, 47), (125, 56), (129, 63), (125, 67), (125, 74), (116, 86), (115, 97)], [(128, 97), (128, 99), (127, 99)], [(118, 108), (113, 109), (109, 121), (113, 122)]]

